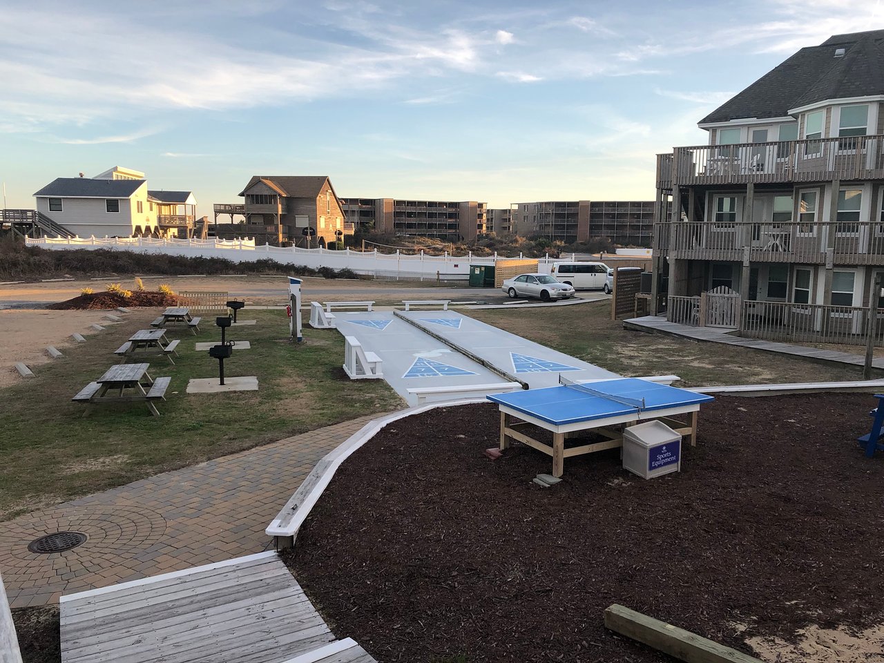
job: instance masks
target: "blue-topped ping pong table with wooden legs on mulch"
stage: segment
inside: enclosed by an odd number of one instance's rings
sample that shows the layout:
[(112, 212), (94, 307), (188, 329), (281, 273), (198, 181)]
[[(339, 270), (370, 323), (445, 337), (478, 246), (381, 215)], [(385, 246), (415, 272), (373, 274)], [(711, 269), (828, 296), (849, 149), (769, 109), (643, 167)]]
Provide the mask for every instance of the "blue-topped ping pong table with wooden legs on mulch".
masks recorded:
[[(704, 393), (659, 385), (637, 377), (575, 383), (560, 377), (560, 386), (488, 396), (500, 410), (500, 450), (518, 440), (552, 456), (552, 476), (562, 476), (565, 459), (613, 449), (623, 444), (622, 429), (647, 419), (659, 419), (697, 444), (700, 405), (713, 400)], [(690, 414), (690, 424), (672, 417)], [(552, 445), (531, 438), (530, 425), (552, 432)], [(565, 439), (593, 431), (603, 441), (565, 447)]]

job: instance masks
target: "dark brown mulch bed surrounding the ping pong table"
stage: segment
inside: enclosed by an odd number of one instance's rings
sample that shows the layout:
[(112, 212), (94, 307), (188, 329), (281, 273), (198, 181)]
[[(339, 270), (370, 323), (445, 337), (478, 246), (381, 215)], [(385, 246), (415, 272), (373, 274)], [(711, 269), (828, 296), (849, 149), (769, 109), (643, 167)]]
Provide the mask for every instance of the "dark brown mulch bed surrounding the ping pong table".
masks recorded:
[(338, 470), (284, 556), (339, 637), (379, 661), (672, 660), (602, 624), (619, 603), (752, 653), (810, 623), (884, 617), (884, 454), (870, 395), (721, 397), (682, 472), (619, 451), (498, 461), (498, 410), (390, 424)]

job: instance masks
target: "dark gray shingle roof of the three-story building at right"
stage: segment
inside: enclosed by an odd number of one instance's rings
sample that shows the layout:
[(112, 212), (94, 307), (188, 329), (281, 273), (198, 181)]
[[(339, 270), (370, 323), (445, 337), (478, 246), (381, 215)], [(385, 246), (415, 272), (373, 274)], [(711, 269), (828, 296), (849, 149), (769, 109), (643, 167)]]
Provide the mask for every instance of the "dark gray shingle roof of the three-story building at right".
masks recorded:
[[(799, 50), (699, 124), (743, 118), (782, 118), (789, 110), (853, 96), (884, 95), (884, 30), (835, 34)], [(834, 57), (836, 48), (845, 50)]]

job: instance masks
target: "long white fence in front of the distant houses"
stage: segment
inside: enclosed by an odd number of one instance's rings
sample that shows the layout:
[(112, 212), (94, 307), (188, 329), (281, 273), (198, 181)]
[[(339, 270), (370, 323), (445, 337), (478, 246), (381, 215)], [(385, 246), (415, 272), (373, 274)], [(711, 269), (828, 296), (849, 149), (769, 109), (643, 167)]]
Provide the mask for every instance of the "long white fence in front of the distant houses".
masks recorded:
[[(469, 265), (494, 264), (497, 260), (506, 260), (508, 256), (497, 254), (491, 256), (468, 255), (402, 255), (378, 253), (374, 251), (331, 251), (326, 248), (297, 248), (255, 246), (255, 240), (160, 240), (151, 237), (131, 238), (26, 238), (27, 246), (50, 249), (68, 248), (113, 248), (137, 253), (156, 253), (166, 255), (199, 255), (202, 257), (226, 258), (235, 263), (247, 263), (272, 258), (278, 263), (306, 265), (314, 269), (331, 267), (332, 269), (349, 268), (357, 274), (377, 276), (378, 278), (415, 278), (432, 280), (466, 280), (469, 278)], [(514, 257), (514, 256), (513, 256)], [(518, 257), (522, 257), (519, 255)], [(538, 258), (539, 271), (549, 273), (553, 263), (568, 260), (568, 257)]]

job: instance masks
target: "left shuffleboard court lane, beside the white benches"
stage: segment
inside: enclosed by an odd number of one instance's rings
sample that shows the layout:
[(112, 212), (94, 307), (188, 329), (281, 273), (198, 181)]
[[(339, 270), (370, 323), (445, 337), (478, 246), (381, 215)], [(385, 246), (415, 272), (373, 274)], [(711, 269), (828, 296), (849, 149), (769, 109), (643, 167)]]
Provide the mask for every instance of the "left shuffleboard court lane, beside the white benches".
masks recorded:
[(341, 334), (354, 336), (364, 350), (383, 360), (385, 380), (410, 405), (417, 403), (417, 397), (409, 393), (409, 389), (507, 382), (442, 341), (393, 316), (392, 311), (338, 311), (335, 316)]

